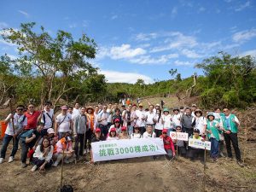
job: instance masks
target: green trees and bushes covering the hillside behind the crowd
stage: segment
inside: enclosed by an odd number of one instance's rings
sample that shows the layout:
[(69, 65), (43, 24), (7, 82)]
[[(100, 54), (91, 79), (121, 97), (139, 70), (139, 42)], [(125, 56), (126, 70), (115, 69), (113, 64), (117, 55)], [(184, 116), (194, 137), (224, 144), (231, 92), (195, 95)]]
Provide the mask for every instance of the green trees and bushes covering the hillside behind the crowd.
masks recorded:
[(231, 56), (220, 52), (205, 59), (195, 67), (201, 68), (204, 76), (182, 79), (177, 69), (169, 73), (172, 79), (145, 84), (137, 79), (136, 84), (107, 83), (98, 68), (92, 67), (90, 59), (96, 57), (94, 39), (82, 35), (75, 40), (71, 33), (58, 31), (50, 36), (44, 27), (35, 23), (20, 25), (20, 30), (4, 29), (2, 38), (13, 44), (17, 58), (3, 55), (0, 59), (0, 104), (11, 96), (17, 103), (52, 101), (67, 102), (117, 102), (122, 96), (184, 95), (200, 96), (205, 108), (227, 106), (245, 108), (256, 100), (255, 58)]

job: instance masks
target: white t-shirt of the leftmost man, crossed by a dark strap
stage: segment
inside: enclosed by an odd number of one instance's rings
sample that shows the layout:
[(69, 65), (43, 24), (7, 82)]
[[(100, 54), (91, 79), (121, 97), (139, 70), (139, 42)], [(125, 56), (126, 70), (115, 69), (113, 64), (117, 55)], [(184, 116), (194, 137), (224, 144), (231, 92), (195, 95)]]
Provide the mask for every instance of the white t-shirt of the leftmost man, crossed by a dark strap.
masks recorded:
[[(10, 115), (11, 115), (11, 113), (9, 113), (8, 117), (5, 120), (9, 119)], [(25, 119), (24, 119), (24, 117), (25, 117)], [(23, 121), (23, 119), (24, 119), (24, 121)], [(5, 134), (7, 134), (9, 136), (14, 135), (14, 128), (13, 128), (12, 120), (13, 119), (9, 119), (9, 123), (7, 125), (6, 131), (4, 132)], [(18, 115), (17, 113), (15, 113), (14, 125), (15, 125), (15, 133), (17, 133), (17, 131), (19, 131), (21, 128), (23, 128), (24, 126), (27, 125), (26, 116), (24, 114)]]

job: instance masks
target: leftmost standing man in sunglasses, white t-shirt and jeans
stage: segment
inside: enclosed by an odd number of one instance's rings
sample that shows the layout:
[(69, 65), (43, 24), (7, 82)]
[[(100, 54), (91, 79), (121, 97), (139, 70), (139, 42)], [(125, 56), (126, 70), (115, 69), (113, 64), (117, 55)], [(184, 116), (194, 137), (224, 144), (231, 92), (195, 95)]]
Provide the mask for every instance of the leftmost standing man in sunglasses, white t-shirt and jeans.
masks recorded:
[(3, 137), (0, 164), (3, 163), (7, 148), (9, 146), (9, 142), (12, 139), (13, 139), (13, 149), (9, 156), (9, 163), (14, 161), (15, 154), (17, 153), (17, 150), (19, 148), (20, 137), (18, 136), (20, 135), (20, 132), (22, 132), (27, 125), (26, 116), (23, 114), (24, 108), (25, 107), (23, 105), (18, 105), (16, 108), (16, 113), (15, 114), (9, 113), (8, 117), (4, 120), (4, 123), (5, 125), (7, 125), (7, 128)]

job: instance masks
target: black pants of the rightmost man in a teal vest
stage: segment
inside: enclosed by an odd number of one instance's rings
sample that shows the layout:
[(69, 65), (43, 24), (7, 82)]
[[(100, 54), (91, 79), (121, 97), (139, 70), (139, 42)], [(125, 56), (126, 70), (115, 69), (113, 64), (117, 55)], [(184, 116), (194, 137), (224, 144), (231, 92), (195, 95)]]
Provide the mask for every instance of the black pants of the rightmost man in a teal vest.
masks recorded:
[(237, 133), (233, 133), (233, 132), (231, 132), (230, 134), (224, 133), (224, 139), (226, 143), (228, 157), (232, 158), (233, 156), (232, 149), (231, 149), (231, 142), (232, 142), (233, 148), (235, 149), (236, 160), (241, 160), (241, 153), (238, 147)]

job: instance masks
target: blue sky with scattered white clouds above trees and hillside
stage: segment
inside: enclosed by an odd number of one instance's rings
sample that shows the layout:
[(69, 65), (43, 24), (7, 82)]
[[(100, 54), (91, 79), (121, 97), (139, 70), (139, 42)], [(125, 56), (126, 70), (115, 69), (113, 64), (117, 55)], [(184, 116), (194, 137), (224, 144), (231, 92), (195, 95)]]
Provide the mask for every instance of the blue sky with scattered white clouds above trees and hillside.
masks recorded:
[[(86, 33), (99, 51), (96, 60), (108, 82), (146, 83), (182, 78), (201, 70), (195, 63), (224, 50), (256, 56), (254, 0), (95, 0), (1, 2), (0, 28), (35, 21), (52, 35), (59, 29), (74, 38)], [(16, 56), (0, 39), (0, 55)]]

